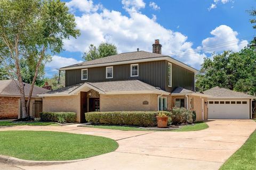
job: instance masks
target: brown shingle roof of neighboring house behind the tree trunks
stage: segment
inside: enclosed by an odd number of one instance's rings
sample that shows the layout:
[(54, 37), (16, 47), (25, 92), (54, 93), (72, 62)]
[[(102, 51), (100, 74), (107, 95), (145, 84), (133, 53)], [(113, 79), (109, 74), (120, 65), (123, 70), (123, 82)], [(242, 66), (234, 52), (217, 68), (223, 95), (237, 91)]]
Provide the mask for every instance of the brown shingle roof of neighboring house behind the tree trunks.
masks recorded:
[[(0, 80), (0, 96), (20, 96), (20, 90), (17, 87), (17, 84), (19, 84), (18, 80)], [(24, 90), (25, 96), (27, 97), (29, 95), (31, 85), (28, 83), (23, 84), (25, 84)], [(34, 86), (32, 96), (38, 97), (38, 94), (42, 94), (47, 91), (49, 90)]]

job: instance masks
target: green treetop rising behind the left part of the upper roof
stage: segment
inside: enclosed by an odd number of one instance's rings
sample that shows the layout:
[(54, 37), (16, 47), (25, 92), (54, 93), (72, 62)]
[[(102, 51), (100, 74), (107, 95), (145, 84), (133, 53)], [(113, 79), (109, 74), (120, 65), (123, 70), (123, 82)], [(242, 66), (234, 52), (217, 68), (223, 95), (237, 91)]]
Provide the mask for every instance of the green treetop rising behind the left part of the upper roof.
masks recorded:
[(101, 43), (99, 47), (95, 47), (93, 44), (90, 45), (89, 51), (84, 53), (84, 60), (90, 61), (97, 58), (107, 57), (110, 55), (116, 55), (117, 49), (113, 44)]

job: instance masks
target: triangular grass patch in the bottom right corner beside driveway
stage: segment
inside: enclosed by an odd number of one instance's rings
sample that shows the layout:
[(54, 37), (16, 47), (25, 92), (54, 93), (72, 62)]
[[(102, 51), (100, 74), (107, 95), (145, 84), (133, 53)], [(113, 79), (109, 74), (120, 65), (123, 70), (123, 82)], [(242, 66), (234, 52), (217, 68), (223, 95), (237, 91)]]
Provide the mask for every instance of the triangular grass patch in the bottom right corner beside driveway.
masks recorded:
[[(256, 121), (256, 120), (254, 120)], [(226, 169), (255, 169), (256, 167), (256, 131), (254, 131), (250, 138), (244, 145), (238, 149), (220, 168)]]

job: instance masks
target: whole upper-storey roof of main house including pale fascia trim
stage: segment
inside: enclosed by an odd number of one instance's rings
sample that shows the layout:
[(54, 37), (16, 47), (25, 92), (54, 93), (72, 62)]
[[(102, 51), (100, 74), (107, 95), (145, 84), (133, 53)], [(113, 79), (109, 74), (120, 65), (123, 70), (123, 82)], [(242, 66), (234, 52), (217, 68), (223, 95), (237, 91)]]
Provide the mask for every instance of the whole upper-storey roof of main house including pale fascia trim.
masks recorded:
[(73, 69), (82, 69), (88, 67), (95, 67), (95, 66), (107, 66), (107, 65), (117, 65), (117, 64), (131, 64), (136, 62), (147, 62), (147, 61), (158, 61), (158, 60), (167, 60), (174, 64), (180, 65), (185, 67), (186, 69), (197, 72), (196, 69), (190, 67), (174, 58), (162, 54), (156, 53), (149, 53), (145, 51), (139, 52), (130, 52), (130, 53), (121, 53), (117, 55), (111, 55), (103, 58), (98, 58), (91, 61), (86, 61), (74, 65), (69, 65), (66, 67), (61, 67), (61, 70), (73, 70)]

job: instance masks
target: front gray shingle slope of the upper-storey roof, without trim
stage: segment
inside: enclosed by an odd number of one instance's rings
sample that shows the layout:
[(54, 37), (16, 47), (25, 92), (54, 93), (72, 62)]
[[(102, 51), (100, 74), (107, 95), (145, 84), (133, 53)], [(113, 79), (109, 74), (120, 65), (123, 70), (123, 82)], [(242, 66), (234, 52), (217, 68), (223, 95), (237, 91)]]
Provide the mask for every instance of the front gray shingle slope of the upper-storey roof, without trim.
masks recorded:
[(103, 63), (113, 63), (113, 62), (122, 62), (122, 61), (129, 61), (129, 60), (139, 60), (145, 58), (155, 58), (155, 57), (164, 57), (166, 55), (156, 54), (156, 53), (149, 53), (145, 51), (139, 52), (130, 52), (130, 53), (121, 53), (117, 55), (111, 55), (108, 57), (98, 58), (91, 61), (86, 61), (78, 64), (73, 64), (65, 67), (61, 67), (61, 69), (67, 67), (76, 67), (76, 66), (85, 66), (85, 65), (93, 65), (93, 64), (103, 64)]

